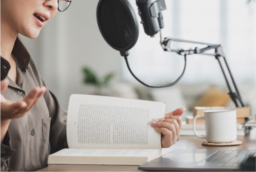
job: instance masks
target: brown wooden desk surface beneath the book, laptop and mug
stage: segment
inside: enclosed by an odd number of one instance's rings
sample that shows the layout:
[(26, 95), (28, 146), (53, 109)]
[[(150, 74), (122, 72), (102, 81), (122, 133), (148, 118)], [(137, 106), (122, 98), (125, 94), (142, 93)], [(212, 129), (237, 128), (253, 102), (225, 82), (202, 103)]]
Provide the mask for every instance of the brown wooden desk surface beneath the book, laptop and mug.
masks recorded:
[[(181, 136), (181, 139), (176, 142), (170, 148), (163, 149), (163, 154), (170, 152), (173, 149), (255, 149), (256, 140), (255, 132), (251, 133), (250, 136), (239, 136), (237, 139), (243, 141), (239, 146), (202, 146), (202, 142), (205, 139), (199, 139), (196, 136)], [(136, 172), (140, 171), (138, 165), (49, 165), (46, 168), (40, 169), (38, 171), (98, 171), (98, 172), (115, 172), (115, 171), (129, 171)]]

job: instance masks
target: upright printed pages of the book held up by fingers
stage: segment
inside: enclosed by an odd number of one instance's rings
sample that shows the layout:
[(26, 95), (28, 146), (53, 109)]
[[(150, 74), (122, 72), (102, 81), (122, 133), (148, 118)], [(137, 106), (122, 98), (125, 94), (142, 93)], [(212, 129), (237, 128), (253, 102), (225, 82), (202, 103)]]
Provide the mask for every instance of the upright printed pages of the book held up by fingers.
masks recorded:
[(165, 104), (108, 96), (71, 95), (69, 148), (160, 149), (161, 135), (149, 122), (164, 116)]

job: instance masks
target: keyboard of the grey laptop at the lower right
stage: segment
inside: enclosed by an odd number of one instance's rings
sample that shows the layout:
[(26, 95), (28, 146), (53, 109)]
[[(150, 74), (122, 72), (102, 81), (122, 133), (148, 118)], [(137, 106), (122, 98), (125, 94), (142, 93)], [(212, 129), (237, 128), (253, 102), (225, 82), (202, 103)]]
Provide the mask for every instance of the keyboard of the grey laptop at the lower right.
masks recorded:
[(239, 151), (239, 150), (218, 150), (203, 161), (199, 162), (199, 166), (239, 166), (240, 163), (251, 156), (255, 156), (255, 151)]

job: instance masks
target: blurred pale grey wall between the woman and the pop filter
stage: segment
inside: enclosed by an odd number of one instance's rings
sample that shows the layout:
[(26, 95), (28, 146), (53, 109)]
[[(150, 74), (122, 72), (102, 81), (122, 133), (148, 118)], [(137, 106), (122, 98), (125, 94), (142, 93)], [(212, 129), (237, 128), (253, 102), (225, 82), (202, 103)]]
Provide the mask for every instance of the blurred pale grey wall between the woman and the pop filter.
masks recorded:
[(37, 39), (21, 36), (48, 88), (65, 109), (71, 93), (88, 91), (82, 83), (82, 66), (90, 66), (100, 76), (114, 71), (115, 80), (122, 76), (120, 53), (108, 46), (98, 29), (97, 3), (73, 1), (68, 10), (57, 12)]

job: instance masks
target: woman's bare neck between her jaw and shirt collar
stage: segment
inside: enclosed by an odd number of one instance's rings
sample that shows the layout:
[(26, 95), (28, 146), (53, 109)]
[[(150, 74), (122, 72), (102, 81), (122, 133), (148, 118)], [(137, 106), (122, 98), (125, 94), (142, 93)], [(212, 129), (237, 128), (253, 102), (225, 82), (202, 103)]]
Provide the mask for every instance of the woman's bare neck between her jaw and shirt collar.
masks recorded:
[(3, 18), (1, 15), (1, 56), (3, 56), (6, 60), (10, 60), (11, 53), (13, 50), (13, 46), (15, 40), (18, 36), (18, 32), (13, 29)]

